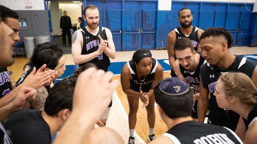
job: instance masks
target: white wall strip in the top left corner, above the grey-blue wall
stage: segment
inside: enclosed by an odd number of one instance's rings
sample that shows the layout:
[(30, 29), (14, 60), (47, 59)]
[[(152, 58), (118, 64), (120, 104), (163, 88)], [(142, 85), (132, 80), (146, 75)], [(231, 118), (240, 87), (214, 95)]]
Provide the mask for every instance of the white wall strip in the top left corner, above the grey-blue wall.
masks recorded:
[(0, 5), (4, 5), (12, 10), (44, 10), (45, 9), (44, 0), (0, 0)]

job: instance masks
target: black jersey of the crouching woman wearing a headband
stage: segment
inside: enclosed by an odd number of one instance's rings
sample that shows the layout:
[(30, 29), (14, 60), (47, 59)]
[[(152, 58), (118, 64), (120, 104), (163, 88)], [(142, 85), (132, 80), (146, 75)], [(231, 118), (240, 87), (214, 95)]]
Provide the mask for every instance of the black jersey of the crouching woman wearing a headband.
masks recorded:
[(133, 60), (128, 61), (128, 68), (131, 73), (132, 79), (130, 79), (130, 88), (136, 92), (149, 92), (152, 86), (152, 82), (155, 78), (155, 71), (158, 65), (156, 59), (152, 58), (152, 69), (145, 79), (139, 79), (136, 72), (136, 65)]

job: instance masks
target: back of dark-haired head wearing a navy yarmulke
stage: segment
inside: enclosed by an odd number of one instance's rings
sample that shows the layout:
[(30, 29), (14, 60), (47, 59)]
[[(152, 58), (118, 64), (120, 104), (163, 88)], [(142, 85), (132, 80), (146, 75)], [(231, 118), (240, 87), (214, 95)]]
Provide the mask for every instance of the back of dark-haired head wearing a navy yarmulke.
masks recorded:
[(172, 77), (161, 81), (154, 88), (156, 103), (170, 119), (190, 117), (193, 109), (193, 93), (183, 80)]

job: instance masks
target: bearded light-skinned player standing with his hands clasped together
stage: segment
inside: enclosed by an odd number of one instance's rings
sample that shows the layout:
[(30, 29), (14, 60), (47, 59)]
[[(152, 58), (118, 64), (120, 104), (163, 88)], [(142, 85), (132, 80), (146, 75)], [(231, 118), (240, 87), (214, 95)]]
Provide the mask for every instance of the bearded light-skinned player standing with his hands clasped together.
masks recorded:
[[(95, 5), (87, 5), (84, 8), (84, 20), (87, 22), (86, 27), (75, 31), (72, 35), (72, 56), (73, 61), (80, 67), (86, 63), (94, 63), (96, 66), (107, 71), (110, 65), (110, 59), (116, 56), (115, 46), (112, 40), (111, 31), (99, 23), (99, 9)], [(101, 122), (106, 123), (110, 107), (102, 116)]]

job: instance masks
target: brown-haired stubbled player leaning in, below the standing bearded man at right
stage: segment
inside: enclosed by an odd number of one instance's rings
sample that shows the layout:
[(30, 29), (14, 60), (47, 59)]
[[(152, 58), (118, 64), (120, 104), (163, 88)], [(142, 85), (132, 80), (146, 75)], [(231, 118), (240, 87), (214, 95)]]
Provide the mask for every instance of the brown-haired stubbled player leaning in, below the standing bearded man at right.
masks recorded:
[(195, 52), (193, 44), (188, 38), (176, 40), (173, 48), (177, 57), (175, 67), (179, 70), (176, 74), (193, 89), (195, 102), (191, 116), (193, 120), (197, 121), (197, 99), (200, 92), (200, 67), (204, 63), (204, 58), (201, 56), (201, 51)]

